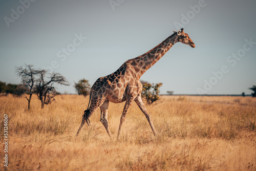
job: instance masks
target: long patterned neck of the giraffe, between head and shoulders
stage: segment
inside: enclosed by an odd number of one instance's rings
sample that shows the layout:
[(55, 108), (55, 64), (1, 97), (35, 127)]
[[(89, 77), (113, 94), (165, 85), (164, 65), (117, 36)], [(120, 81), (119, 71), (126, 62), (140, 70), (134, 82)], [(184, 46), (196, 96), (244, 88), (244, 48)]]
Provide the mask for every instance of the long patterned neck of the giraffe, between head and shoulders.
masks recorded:
[(176, 42), (177, 33), (174, 33), (145, 54), (130, 59), (129, 61), (135, 68), (136, 73), (139, 74), (138, 76), (141, 77), (148, 69), (150, 69), (170, 48), (174, 46)]

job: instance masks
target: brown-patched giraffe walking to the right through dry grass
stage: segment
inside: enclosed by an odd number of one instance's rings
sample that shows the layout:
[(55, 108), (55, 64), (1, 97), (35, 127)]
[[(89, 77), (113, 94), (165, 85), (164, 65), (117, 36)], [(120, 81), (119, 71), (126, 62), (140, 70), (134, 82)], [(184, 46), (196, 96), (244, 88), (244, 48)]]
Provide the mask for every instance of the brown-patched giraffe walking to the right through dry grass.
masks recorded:
[(104, 125), (106, 132), (111, 137), (108, 124), (108, 106), (109, 102), (121, 103), (125, 101), (123, 112), (120, 118), (120, 125), (117, 133), (119, 139), (121, 127), (124, 122), (127, 111), (133, 101), (139, 106), (151, 126), (153, 134), (156, 136), (156, 130), (151, 119), (151, 115), (145, 108), (141, 98), (142, 84), (140, 77), (150, 69), (176, 42), (182, 42), (195, 48), (194, 42), (189, 38), (188, 34), (181, 31), (173, 31), (174, 33), (162, 41), (158, 46), (136, 58), (127, 60), (114, 73), (100, 77), (93, 84), (90, 92), (90, 100), (87, 110), (82, 115), (82, 122), (76, 135), (79, 134), (84, 123), (90, 125), (89, 117), (100, 108), (100, 121)]

